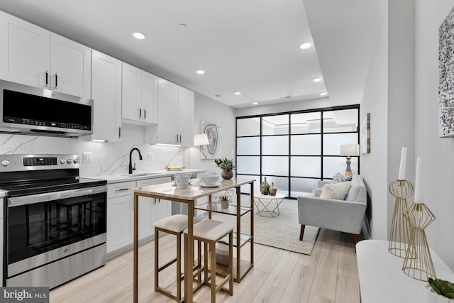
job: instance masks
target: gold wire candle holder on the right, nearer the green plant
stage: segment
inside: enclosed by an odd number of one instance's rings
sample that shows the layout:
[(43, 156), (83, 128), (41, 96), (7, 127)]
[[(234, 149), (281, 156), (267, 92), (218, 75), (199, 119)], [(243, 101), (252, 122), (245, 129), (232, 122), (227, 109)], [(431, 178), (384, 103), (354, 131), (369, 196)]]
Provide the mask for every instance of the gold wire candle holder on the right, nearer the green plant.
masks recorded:
[(424, 231), (424, 228), (435, 220), (435, 216), (423, 203), (411, 204), (404, 210), (403, 215), (409, 221), (412, 229), (402, 270), (416, 280), (427, 281), (429, 277), (436, 279), (431, 250), (428, 247), (426, 231)]

